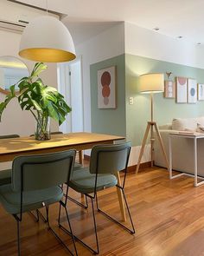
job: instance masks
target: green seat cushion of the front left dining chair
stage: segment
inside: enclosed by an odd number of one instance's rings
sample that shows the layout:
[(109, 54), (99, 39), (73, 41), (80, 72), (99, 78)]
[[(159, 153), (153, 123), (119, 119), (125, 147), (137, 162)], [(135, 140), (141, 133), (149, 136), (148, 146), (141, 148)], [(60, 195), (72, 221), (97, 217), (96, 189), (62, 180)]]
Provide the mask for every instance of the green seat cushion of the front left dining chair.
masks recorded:
[[(0, 187), (0, 202), (8, 213), (17, 214), (20, 213), (20, 197), (21, 193), (13, 192), (11, 184), (3, 185)], [(49, 187), (46, 189), (36, 191), (23, 192), (23, 207), (22, 212), (28, 212), (37, 208), (43, 207), (42, 202), (45, 205), (52, 204), (60, 201), (63, 197), (63, 191), (61, 187)]]

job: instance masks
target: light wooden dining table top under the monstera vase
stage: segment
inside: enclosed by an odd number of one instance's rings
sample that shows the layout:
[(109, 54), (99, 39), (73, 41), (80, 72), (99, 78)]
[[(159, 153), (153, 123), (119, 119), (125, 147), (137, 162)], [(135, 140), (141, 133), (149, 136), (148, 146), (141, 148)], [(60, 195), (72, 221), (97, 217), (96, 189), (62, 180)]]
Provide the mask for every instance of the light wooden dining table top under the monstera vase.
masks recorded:
[(92, 148), (97, 143), (112, 143), (112, 141), (118, 140), (124, 140), (124, 137), (84, 132), (51, 135), (51, 140), (49, 141), (36, 141), (34, 137), (3, 139), (0, 140), (0, 158), (5, 154), (20, 154), (35, 152), (35, 150), (43, 151), (43, 149), (54, 149), (56, 151), (57, 148), (64, 148), (65, 150), (75, 148), (77, 150), (83, 150)]

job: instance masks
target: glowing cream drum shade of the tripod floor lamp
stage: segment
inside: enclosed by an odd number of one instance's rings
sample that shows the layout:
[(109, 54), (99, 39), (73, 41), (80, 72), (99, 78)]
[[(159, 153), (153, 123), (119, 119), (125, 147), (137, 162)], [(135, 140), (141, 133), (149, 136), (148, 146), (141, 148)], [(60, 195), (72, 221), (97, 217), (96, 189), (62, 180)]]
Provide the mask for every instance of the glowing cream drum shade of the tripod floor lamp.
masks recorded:
[(139, 91), (140, 93), (160, 93), (164, 89), (163, 74), (145, 74), (139, 76)]

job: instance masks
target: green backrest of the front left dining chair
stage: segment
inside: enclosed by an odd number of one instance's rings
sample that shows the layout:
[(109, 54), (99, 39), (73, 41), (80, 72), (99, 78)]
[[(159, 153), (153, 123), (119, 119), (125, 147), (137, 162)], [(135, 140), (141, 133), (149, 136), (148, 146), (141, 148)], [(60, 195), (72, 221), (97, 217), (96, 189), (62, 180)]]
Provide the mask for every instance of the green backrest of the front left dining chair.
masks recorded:
[(76, 150), (52, 154), (18, 156), (12, 165), (12, 188), (15, 192), (54, 187), (69, 181)]

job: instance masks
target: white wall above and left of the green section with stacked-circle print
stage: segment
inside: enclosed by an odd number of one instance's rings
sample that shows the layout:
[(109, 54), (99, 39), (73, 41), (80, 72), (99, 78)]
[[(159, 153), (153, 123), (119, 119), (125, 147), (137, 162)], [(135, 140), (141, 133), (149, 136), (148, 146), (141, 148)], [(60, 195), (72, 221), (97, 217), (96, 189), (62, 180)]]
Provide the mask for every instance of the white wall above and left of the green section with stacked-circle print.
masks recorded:
[(82, 56), (84, 95), (84, 130), (91, 131), (90, 65), (124, 54), (124, 23), (118, 23), (76, 46), (77, 56)]

